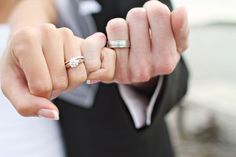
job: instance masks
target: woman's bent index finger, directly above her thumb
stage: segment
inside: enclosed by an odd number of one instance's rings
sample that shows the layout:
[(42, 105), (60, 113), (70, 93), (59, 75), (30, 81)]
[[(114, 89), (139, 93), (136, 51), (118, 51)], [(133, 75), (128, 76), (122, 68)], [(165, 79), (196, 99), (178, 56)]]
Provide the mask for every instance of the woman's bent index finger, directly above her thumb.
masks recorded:
[(13, 39), (10, 48), (27, 81), (29, 91), (50, 98), (52, 82), (37, 34), (26, 29)]

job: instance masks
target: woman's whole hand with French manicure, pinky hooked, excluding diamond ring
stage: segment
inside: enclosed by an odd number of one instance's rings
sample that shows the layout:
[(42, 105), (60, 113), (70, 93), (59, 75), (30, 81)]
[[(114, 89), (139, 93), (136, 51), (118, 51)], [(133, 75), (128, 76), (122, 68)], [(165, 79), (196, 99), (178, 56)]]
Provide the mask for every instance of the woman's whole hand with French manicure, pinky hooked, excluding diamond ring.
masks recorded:
[[(52, 24), (24, 27), (12, 34), (1, 63), (1, 87), (22, 116), (40, 116), (57, 120), (59, 111), (50, 101), (72, 90), (87, 79), (111, 81), (115, 72), (115, 51), (104, 48), (106, 36), (95, 33), (81, 39), (68, 28)], [(82, 51), (83, 52), (82, 52)], [(65, 62), (77, 56), (86, 58), (76, 68)], [(97, 62), (99, 66), (90, 66)]]

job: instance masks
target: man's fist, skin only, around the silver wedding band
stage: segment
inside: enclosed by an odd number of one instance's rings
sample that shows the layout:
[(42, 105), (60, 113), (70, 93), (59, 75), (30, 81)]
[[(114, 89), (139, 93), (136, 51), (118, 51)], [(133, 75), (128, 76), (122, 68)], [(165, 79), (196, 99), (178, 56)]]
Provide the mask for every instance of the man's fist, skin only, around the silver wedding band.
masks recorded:
[[(151, 78), (168, 75), (188, 47), (189, 26), (184, 7), (170, 12), (159, 1), (131, 9), (126, 19), (108, 22), (108, 40), (130, 40), (130, 49), (115, 49), (117, 83), (148, 86)], [(95, 65), (94, 65), (95, 66)]]

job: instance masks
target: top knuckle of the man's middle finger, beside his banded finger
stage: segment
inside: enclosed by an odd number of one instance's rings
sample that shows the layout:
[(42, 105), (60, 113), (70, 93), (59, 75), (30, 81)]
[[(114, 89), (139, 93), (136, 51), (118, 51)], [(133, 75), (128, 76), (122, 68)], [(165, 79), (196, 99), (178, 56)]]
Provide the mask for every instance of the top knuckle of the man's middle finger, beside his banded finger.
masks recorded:
[(126, 19), (128, 21), (140, 21), (146, 18), (146, 11), (144, 8), (133, 8), (131, 9)]

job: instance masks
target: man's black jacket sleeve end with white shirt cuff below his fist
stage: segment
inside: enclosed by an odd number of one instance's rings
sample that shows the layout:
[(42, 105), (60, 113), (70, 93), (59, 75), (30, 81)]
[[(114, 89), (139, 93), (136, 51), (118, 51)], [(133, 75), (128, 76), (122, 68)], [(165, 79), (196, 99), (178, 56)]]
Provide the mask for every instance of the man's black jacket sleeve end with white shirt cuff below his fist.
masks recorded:
[(157, 85), (149, 90), (137, 90), (127, 85), (119, 85), (119, 92), (128, 108), (136, 129), (150, 126), (155, 119), (164, 116), (178, 104), (187, 91), (188, 71), (181, 59), (174, 72), (159, 76)]

